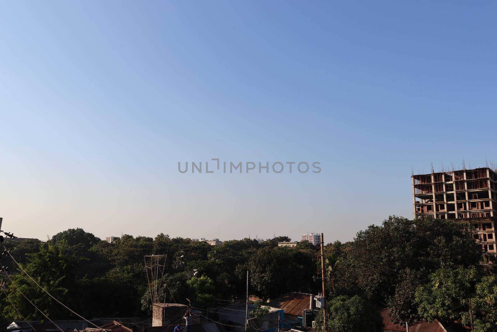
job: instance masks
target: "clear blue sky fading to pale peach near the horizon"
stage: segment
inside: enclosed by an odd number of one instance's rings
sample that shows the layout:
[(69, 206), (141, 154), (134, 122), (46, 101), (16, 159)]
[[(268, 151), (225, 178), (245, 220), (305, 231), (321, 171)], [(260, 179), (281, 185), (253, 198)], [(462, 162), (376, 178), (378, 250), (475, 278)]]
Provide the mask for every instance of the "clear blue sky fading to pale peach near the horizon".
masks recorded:
[[(328, 242), (413, 218), (413, 169), (496, 159), (496, 17), (495, 1), (3, 2), (3, 228)], [(177, 170), (211, 158), (322, 172)]]

